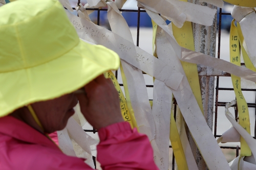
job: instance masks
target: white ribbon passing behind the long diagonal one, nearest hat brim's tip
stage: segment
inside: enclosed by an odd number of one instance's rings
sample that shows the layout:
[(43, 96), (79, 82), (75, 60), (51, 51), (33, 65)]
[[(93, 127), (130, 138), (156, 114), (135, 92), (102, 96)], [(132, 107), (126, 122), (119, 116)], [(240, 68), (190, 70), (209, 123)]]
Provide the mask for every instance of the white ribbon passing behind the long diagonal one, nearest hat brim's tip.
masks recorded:
[[(129, 26), (113, 1), (107, 2), (108, 19), (113, 33), (128, 40), (133, 44), (133, 38)], [(120, 46), (122, 48), (122, 46)], [(136, 56), (136, 48), (131, 45), (131, 57)], [(148, 95), (142, 71), (121, 60), (123, 71), (127, 79), (132, 107), (139, 130), (148, 136), (150, 140), (155, 137), (155, 123), (152, 109), (148, 102)]]

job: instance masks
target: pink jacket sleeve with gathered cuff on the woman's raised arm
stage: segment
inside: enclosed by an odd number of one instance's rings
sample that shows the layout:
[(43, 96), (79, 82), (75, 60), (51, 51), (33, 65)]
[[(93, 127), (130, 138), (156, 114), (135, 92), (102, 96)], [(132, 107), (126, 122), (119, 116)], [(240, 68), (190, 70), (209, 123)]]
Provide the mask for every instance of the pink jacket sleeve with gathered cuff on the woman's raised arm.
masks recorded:
[(158, 169), (150, 141), (129, 123), (122, 122), (99, 129), (97, 160), (103, 170)]

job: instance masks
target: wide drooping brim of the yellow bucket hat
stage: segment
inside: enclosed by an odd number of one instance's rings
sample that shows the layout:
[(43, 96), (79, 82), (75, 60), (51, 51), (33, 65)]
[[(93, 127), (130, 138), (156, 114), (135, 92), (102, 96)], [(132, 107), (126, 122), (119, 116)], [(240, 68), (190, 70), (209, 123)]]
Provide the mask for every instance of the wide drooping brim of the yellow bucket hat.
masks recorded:
[(52, 61), (2, 72), (0, 82), (6, 84), (0, 89), (0, 117), (28, 104), (71, 93), (103, 72), (118, 69), (119, 64), (115, 52), (80, 40), (72, 50)]

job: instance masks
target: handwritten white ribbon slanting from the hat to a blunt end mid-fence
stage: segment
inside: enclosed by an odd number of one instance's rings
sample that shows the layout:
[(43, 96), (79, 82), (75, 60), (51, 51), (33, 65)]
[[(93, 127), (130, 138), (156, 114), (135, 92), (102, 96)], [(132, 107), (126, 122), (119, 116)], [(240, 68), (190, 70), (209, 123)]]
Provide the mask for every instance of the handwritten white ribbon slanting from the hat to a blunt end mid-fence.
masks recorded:
[[(135, 46), (130, 41), (123, 39), (105, 28), (79, 18), (69, 12), (67, 14), (75, 26), (80, 38), (112, 49), (127, 63), (143, 70), (148, 75), (164, 82), (167, 86), (173, 89), (179, 87), (183, 75), (180, 74), (175, 67), (167, 65), (165, 62), (162, 62), (151, 54), (141, 50), (141, 48)], [(134, 53), (131, 50), (134, 46), (137, 52), (136, 56), (134, 56)]]

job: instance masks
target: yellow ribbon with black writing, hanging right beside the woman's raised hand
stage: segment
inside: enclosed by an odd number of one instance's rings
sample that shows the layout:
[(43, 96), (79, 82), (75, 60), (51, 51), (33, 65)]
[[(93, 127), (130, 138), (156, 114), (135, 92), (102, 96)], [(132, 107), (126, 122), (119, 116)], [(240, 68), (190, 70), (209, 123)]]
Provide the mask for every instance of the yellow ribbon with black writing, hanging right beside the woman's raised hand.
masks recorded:
[[(122, 114), (123, 119), (125, 120), (125, 122), (129, 122), (132, 128), (137, 127), (135, 117), (132, 118), (129, 108), (128, 108), (128, 105), (127, 105), (127, 102), (126, 102), (127, 96), (125, 99), (122, 89), (121, 89), (115, 75), (113, 74), (112, 71), (107, 71), (104, 73), (104, 76), (105, 76), (105, 78), (109, 78), (112, 80), (112, 82), (118, 92), (120, 109), (121, 109), (121, 114)], [(135, 121), (135, 123), (133, 123), (133, 121)]]

